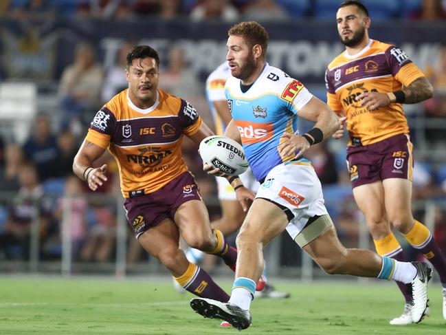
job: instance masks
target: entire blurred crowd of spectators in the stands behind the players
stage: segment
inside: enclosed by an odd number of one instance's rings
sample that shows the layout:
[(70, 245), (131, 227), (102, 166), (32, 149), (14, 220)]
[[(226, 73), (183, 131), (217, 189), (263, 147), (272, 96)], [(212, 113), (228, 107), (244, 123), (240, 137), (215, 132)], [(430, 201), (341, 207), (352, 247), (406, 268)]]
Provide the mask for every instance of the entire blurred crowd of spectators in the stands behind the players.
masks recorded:
[[(365, 1), (370, 12), (386, 8), (372, 17), (408, 19), (445, 19), (446, 1)], [(370, 4), (369, 4), (370, 3)], [(373, 5), (376, 4), (377, 6)], [(378, 6), (381, 4), (381, 6)], [(339, 1), (330, 0), (4, 0), (0, 13), (13, 19), (30, 15), (131, 19), (156, 15), (164, 19), (189, 17), (192, 20), (219, 19), (289, 19), (321, 17), (333, 19)], [(401, 7), (402, 6), (402, 7)], [(394, 12), (390, 9), (394, 8)], [(404, 10), (402, 10), (404, 8)], [(328, 14), (330, 16), (328, 16)], [(71, 170), (74, 155), (96, 111), (119, 91), (127, 87), (124, 68), (126, 54), (133, 43), (124, 41), (112, 66), (104, 67), (97, 47), (88, 42), (76, 45), (73, 60), (63, 69), (57, 89), (57, 114), (39, 111), (24, 142), (0, 132), (0, 260), (30, 259), (30, 236), (38, 224), (39, 257), (60, 259), (62, 235), (69, 233), (75, 261), (108, 262), (115, 259), (115, 232), (121, 197), (118, 167), (110, 155), (101, 162), (109, 164), (109, 180), (96, 193)], [(438, 59), (425, 70), (434, 85), (434, 98), (423, 104), (422, 117), (445, 118), (446, 113), (446, 45)], [(190, 71), (181, 47), (172, 47), (166, 66), (161, 67), (159, 87), (189, 100), (201, 116), (212, 125), (204, 96), (204, 83)], [(427, 140), (445, 140), (443, 129), (426, 133)], [(414, 137), (416, 148), (416, 137)], [(317, 144), (306, 154), (324, 186), (329, 212), (337, 224), (344, 244), (357, 246), (361, 216), (353, 202), (345, 163), (346, 142), (329, 140)], [(183, 143), (183, 159), (194, 173), (201, 195), (210, 202), (210, 215), (219, 217), (216, 185), (202, 171), (197, 146)], [(415, 158), (414, 199), (443, 200), (446, 196), (446, 162), (433, 164)], [(212, 200), (212, 201), (211, 201)], [(425, 215), (420, 210), (419, 215)], [(69, 219), (69, 224), (66, 220)], [(434, 215), (435, 238), (446, 250), (446, 211), (437, 208)], [(64, 228), (65, 227), (65, 228)], [(64, 229), (69, 227), (69, 232)], [(129, 263), (144, 259), (139, 244), (129, 238)]]

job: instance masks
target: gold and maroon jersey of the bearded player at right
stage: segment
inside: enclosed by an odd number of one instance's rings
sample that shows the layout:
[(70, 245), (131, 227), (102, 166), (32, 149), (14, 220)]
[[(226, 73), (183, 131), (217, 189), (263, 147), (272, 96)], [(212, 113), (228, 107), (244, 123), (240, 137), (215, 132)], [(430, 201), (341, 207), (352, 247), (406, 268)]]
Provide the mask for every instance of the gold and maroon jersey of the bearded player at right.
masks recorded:
[(423, 72), (401, 49), (370, 39), (359, 54), (349, 56), (343, 52), (328, 65), (327, 104), (334, 111), (345, 111), (350, 138), (359, 138), (364, 145), (379, 142), (409, 133), (401, 104), (370, 111), (355, 98), (366, 91), (398, 91), (422, 76)]

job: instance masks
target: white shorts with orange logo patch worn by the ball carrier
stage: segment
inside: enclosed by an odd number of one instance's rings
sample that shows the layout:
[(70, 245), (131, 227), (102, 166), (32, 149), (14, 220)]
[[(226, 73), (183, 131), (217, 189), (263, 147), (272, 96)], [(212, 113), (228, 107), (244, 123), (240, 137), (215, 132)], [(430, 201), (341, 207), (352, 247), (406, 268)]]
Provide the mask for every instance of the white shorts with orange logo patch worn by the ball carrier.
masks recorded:
[(328, 214), (322, 186), (309, 163), (280, 164), (267, 174), (256, 198), (285, 206), (294, 215), (287, 232), (292, 239), (302, 231), (310, 217)]

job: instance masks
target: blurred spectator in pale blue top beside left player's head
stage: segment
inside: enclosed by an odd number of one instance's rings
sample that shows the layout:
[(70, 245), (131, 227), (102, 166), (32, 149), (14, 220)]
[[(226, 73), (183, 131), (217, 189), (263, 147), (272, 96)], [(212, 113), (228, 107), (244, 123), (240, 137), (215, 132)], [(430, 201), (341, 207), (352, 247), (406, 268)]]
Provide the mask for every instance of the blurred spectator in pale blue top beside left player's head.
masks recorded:
[(109, 101), (115, 94), (129, 86), (124, 69), (126, 68), (127, 53), (132, 47), (130, 42), (123, 42), (116, 56), (115, 65), (107, 69), (102, 86), (101, 103)]

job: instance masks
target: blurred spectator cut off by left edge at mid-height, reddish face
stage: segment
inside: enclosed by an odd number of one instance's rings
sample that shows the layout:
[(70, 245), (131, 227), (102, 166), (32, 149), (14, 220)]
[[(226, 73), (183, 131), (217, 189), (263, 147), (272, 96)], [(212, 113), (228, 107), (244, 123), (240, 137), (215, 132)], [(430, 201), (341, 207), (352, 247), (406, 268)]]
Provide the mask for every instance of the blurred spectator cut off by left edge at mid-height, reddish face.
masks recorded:
[(23, 151), (19, 144), (5, 145), (5, 162), (0, 168), (1, 191), (19, 191), (19, 167), (23, 162)]

